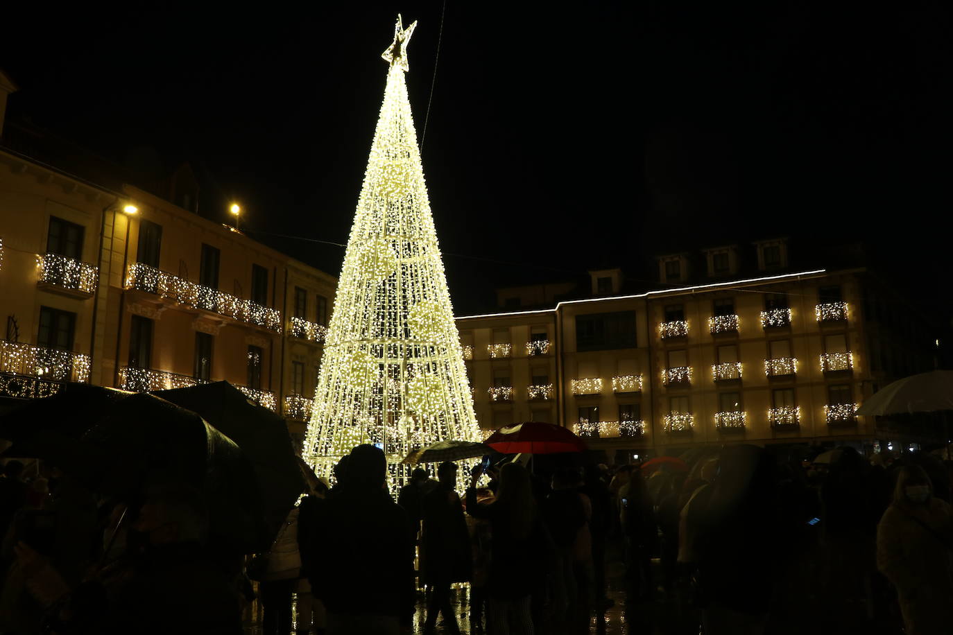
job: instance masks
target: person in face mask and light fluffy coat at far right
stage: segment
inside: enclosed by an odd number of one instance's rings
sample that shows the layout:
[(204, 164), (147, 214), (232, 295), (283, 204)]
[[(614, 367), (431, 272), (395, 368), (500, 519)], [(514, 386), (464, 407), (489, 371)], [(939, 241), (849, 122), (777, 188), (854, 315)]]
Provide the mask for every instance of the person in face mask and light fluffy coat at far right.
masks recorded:
[(897, 588), (907, 635), (953, 624), (953, 512), (921, 466), (904, 466), (877, 526), (877, 566)]

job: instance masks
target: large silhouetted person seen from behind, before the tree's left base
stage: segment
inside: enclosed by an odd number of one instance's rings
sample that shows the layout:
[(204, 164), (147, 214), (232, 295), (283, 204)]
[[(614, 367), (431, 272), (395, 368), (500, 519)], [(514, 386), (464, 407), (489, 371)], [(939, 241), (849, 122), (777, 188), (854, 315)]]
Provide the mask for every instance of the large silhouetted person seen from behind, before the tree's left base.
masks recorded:
[[(384, 490), (387, 460), (371, 445), (351, 450), (344, 482), (325, 504), (312, 543), (324, 548), (311, 578), (328, 611), (329, 635), (398, 633), (414, 614), (410, 520)], [(312, 566), (309, 566), (309, 571)]]

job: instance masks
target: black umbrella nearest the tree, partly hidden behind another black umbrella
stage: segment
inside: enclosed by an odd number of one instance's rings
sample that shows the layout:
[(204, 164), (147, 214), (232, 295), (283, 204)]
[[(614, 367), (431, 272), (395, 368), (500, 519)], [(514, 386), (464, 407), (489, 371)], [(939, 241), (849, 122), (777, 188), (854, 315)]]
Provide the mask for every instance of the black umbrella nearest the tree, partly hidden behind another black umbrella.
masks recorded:
[(155, 394), (197, 412), (242, 448), (254, 466), (264, 496), (265, 520), (274, 535), (305, 489), (284, 419), (254, 405), (228, 382), (159, 390)]

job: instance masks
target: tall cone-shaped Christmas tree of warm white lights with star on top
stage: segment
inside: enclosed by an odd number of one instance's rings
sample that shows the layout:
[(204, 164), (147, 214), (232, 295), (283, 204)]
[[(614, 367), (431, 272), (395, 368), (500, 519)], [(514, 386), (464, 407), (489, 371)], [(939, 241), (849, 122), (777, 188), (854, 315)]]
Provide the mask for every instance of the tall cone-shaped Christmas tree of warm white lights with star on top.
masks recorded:
[(443, 439), (479, 439), (473, 397), (420, 164), (400, 16), (324, 346), (304, 458), (327, 474), (372, 443), (391, 464)]

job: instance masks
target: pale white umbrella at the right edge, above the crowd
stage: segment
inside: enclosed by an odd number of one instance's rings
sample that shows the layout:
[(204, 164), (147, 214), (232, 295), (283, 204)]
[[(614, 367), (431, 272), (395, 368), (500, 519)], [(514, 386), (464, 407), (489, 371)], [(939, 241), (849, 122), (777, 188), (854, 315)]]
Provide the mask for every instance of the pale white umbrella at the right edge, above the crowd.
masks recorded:
[(953, 370), (911, 375), (875, 392), (857, 410), (860, 415), (953, 410)]

